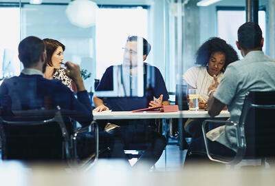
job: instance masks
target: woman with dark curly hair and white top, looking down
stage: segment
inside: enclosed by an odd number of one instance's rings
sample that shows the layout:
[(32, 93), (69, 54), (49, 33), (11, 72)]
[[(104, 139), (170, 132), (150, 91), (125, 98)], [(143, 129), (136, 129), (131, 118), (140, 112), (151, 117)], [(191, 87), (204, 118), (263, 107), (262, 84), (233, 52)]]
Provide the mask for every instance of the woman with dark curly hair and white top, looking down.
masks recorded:
[[(238, 61), (239, 57), (231, 45), (219, 37), (212, 37), (203, 43), (197, 50), (196, 65), (184, 73), (184, 81), (187, 83), (186, 93), (189, 89), (197, 89), (199, 97), (199, 109), (207, 109), (208, 87), (214, 83), (214, 79), (219, 83), (226, 67)], [(193, 138), (200, 136), (201, 123), (199, 119), (188, 119), (184, 128)]]

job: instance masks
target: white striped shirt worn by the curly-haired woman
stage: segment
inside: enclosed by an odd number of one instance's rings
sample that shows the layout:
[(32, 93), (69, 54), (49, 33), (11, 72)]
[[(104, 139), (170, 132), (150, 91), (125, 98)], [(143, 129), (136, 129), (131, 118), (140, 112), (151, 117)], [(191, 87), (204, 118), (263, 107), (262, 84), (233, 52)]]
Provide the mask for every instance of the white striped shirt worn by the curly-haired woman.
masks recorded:
[[(218, 82), (221, 81), (223, 72), (218, 74)], [(206, 67), (192, 67), (184, 73), (184, 81), (197, 89), (202, 98), (208, 100), (208, 87), (214, 83), (214, 78), (208, 74)]]

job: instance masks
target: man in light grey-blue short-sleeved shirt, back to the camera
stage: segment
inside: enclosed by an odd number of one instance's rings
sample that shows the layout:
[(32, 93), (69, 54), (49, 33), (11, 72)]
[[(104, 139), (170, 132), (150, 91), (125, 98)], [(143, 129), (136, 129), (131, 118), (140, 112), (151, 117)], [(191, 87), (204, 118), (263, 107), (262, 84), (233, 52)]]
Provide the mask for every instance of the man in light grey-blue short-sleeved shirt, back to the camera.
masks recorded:
[[(217, 116), (225, 105), (230, 112), (230, 121), (239, 123), (246, 92), (275, 91), (275, 60), (263, 54), (263, 37), (259, 25), (248, 22), (238, 30), (236, 46), (244, 57), (228, 65), (221, 83), (214, 83), (208, 89), (208, 114)], [(236, 152), (234, 127), (221, 126), (207, 137)]]

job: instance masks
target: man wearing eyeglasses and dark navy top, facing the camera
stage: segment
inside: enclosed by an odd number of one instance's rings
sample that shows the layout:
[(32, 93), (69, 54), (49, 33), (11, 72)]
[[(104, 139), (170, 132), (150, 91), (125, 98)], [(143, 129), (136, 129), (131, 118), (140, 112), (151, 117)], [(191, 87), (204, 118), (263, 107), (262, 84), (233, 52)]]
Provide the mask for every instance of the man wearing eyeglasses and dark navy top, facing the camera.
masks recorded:
[[(122, 49), (124, 52), (123, 63), (116, 67), (122, 69), (120, 71), (121, 78), (118, 77), (118, 81), (122, 84), (120, 94), (123, 96), (107, 98), (104, 99), (104, 101), (94, 96), (93, 101), (96, 105), (94, 111), (131, 111), (145, 107), (169, 105), (169, 96), (162, 74), (156, 67), (144, 63), (151, 50), (151, 45), (148, 41), (142, 37), (128, 37), (126, 45)], [(111, 66), (107, 68), (96, 88), (96, 91), (113, 89), (113, 83), (116, 83), (113, 82), (113, 73), (115, 72), (114, 67), (115, 66)], [(144, 94), (140, 97), (138, 96), (140, 94), (140, 84), (138, 82), (139, 79), (142, 78)], [(151, 121), (131, 120), (112, 121), (111, 123), (120, 125), (112, 132), (121, 136), (126, 147), (129, 143), (146, 143), (146, 151), (142, 154), (139, 161), (135, 163), (135, 167), (138, 167), (141, 164), (144, 166), (143, 163), (145, 162), (148, 168), (150, 168), (157, 162), (166, 146), (166, 139), (164, 136), (153, 130)]]

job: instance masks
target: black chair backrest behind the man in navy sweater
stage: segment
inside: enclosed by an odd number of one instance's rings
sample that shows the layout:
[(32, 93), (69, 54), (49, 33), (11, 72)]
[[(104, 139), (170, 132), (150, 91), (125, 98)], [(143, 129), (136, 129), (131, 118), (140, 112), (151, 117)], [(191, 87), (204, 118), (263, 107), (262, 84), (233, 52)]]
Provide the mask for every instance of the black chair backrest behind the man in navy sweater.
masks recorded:
[(68, 130), (54, 114), (0, 118), (2, 159), (61, 161), (67, 158)]

